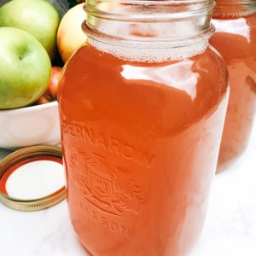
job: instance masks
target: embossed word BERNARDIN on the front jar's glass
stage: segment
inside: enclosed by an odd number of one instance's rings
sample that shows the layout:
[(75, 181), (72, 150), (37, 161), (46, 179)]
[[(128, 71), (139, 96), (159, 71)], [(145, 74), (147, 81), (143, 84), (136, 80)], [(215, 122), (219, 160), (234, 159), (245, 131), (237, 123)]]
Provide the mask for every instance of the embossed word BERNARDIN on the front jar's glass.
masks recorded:
[(106, 137), (103, 133), (93, 131), (90, 125), (79, 125), (63, 121), (62, 131), (70, 137), (82, 139), (86, 143), (108, 150), (127, 160), (133, 160), (148, 168), (152, 166), (155, 159), (153, 154), (148, 154), (143, 152), (143, 150), (132, 147), (128, 143), (123, 143), (116, 137)]

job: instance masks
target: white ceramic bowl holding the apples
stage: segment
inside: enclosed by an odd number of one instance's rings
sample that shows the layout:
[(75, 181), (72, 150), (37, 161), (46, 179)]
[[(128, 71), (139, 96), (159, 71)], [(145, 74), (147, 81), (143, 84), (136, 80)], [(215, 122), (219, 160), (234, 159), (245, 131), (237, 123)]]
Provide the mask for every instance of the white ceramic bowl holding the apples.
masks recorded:
[(0, 148), (61, 142), (58, 102), (0, 110)]

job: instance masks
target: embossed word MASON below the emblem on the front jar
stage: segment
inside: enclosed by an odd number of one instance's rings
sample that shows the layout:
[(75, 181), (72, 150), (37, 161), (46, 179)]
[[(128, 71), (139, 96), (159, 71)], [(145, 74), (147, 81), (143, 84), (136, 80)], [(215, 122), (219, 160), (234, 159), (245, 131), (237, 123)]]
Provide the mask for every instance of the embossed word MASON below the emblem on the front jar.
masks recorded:
[(131, 236), (131, 229), (126, 227), (124, 224), (119, 224), (117, 221), (108, 219), (107, 217), (102, 216), (102, 214), (96, 210), (90, 210), (89, 207), (85, 206), (83, 203), (79, 204), (79, 208), (84, 213), (84, 217), (101, 226), (103, 229), (108, 229), (111, 232), (117, 233), (121, 236)]

